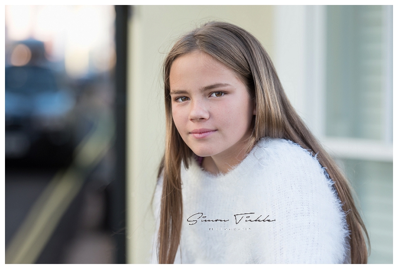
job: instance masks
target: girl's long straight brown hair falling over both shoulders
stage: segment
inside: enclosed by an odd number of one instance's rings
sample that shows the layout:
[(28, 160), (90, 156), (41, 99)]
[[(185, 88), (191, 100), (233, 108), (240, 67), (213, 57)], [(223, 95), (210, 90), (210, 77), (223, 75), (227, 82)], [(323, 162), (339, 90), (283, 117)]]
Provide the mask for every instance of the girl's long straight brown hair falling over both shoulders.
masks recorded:
[(172, 117), (170, 97), (170, 69), (178, 57), (201, 51), (232, 69), (255, 96), (256, 115), (253, 132), (247, 149), (263, 137), (284, 138), (317, 154), (320, 165), (329, 177), (346, 212), (350, 230), (351, 263), (366, 264), (368, 252), (364, 239), (369, 237), (352, 197), (352, 188), (333, 159), (307, 129), (289, 102), (279, 81), (271, 58), (260, 42), (246, 30), (226, 22), (208, 22), (181, 37), (164, 62), (164, 87), (166, 104), (166, 148), (160, 165), (163, 173), (158, 258), (160, 264), (174, 263), (182, 227), (183, 199), (181, 189), (181, 162), (189, 167), (192, 150), (181, 138)]

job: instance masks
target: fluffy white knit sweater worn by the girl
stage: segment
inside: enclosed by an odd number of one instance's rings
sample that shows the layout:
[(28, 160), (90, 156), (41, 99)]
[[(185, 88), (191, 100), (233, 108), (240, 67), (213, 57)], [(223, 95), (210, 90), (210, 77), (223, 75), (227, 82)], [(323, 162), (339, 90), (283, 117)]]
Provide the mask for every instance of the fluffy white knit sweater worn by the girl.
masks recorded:
[[(333, 182), (297, 144), (263, 138), (225, 175), (205, 172), (193, 159), (188, 171), (182, 165), (181, 176), (183, 225), (175, 264), (350, 262), (345, 213)], [(154, 200), (156, 231), (162, 181)], [(252, 214), (236, 215), (244, 213)]]

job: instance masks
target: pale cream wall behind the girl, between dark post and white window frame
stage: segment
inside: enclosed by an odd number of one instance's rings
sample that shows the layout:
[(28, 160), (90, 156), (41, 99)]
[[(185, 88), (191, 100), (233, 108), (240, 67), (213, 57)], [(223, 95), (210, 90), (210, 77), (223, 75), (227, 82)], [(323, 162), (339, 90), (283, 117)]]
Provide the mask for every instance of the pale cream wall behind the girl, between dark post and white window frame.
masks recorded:
[(256, 36), (273, 58), (272, 6), (134, 6), (128, 25), (127, 263), (149, 260), (154, 233), (150, 201), (164, 152), (161, 65), (173, 41), (208, 20), (223, 20)]

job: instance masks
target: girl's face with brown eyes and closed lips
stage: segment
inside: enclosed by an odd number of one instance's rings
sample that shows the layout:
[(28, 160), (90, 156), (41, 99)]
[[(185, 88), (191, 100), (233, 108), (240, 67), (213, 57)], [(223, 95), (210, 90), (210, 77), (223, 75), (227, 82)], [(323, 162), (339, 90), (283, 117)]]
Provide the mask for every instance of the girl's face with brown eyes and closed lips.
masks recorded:
[(196, 155), (241, 153), (256, 110), (234, 71), (206, 53), (186, 54), (171, 66), (170, 94), (174, 124)]

